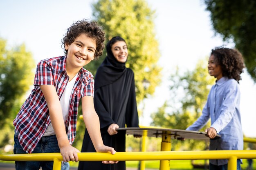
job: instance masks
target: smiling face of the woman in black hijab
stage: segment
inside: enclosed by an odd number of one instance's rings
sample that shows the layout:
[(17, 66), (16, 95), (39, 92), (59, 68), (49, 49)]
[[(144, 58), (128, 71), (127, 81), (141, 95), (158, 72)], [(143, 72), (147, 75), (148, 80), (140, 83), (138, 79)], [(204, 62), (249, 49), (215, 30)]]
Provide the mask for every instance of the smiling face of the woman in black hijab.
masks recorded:
[(128, 48), (124, 41), (115, 42), (111, 47), (111, 51), (118, 62), (126, 62), (128, 57)]

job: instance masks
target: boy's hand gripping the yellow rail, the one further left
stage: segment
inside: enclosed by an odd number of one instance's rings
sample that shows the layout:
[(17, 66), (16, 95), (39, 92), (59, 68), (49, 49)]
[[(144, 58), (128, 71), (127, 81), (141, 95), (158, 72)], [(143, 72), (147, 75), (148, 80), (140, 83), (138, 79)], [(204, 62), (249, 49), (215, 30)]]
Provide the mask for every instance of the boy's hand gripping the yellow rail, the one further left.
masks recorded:
[(80, 152), (78, 149), (74, 148), (73, 146), (67, 145), (61, 147), (60, 150), (64, 162), (78, 161), (77, 153)]

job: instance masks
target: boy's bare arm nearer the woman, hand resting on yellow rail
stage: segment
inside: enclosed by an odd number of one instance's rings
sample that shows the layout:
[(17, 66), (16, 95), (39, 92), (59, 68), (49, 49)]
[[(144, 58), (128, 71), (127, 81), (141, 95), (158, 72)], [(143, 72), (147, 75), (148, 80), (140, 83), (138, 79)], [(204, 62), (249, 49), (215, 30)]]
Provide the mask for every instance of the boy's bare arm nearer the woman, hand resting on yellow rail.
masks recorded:
[[(99, 117), (94, 110), (93, 97), (84, 96), (82, 97), (82, 110), (83, 110), (83, 121), (86, 129), (92, 139), (93, 146), (97, 152), (111, 152), (115, 154), (114, 148), (105, 146), (101, 138), (101, 131), (99, 126)], [(102, 161), (102, 163), (117, 163), (118, 161)]]

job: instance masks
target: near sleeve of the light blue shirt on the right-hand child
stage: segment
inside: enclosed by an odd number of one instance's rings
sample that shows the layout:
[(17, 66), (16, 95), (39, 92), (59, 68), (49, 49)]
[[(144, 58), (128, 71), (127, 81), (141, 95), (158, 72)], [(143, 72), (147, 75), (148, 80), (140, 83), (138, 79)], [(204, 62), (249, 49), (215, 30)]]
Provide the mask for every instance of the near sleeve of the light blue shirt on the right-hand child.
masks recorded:
[(225, 98), (220, 108), (220, 116), (214, 121), (211, 127), (215, 128), (217, 133), (224, 129), (234, 116), (236, 104), (240, 99), (238, 84), (233, 83), (225, 92)]

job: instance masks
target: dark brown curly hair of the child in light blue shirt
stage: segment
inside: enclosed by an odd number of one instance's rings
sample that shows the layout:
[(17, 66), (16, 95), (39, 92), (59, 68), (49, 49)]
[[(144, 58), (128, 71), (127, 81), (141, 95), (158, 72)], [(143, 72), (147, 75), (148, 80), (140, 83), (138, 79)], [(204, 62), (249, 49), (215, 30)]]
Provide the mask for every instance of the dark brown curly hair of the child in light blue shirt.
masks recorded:
[(211, 50), (211, 55), (214, 55), (216, 64), (220, 65), (222, 75), (233, 78), (239, 83), (240, 74), (245, 68), (242, 54), (237, 49), (216, 47)]

